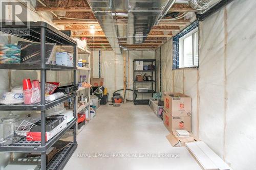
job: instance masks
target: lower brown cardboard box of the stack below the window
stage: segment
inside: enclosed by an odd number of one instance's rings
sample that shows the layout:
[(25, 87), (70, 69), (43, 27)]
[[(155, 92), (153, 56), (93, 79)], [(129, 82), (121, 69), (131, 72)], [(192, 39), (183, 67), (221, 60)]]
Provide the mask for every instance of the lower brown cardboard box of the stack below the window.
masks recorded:
[(169, 132), (172, 132), (173, 129), (186, 129), (188, 132), (191, 131), (190, 116), (172, 116), (164, 110), (163, 124)]

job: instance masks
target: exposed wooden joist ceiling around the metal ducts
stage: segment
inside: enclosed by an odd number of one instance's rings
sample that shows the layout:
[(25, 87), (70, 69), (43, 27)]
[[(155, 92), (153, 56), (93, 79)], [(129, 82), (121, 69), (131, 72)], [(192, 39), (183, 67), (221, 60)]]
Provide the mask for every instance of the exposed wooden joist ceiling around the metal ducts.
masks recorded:
[[(68, 3), (67, 3), (68, 2)], [(84, 0), (44, 0), (45, 4), (36, 6), (37, 11), (44, 12), (66, 12), (65, 18), (55, 15), (52, 20), (55, 25), (65, 26), (65, 30), (71, 30), (74, 38), (87, 38), (87, 45), (93, 49), (112, 50), (109, 40), (106, 38), (102, 28), (93, 14), (93, 11), (87, 1)], [(114, 11), (127, 13), (127, 11)], [(188, 4), (174, 4), (169, 12), (195, 12)], [(127, 44), (127, 38), (118, 38), (120, 46), (128, 50), (156, 50), (160, 45), (165, 43), (167, 39), (173, 37), (173, 32), (180, 31), (184, 26), (189, 25), (190, 20), (178, 19), (168, 20), (171, 17), (165, 17), (157, 26), (154, 26), (147, 38), (140, 44)], [(126, 17), (114, 16), (114, 25), (123, 25), (126, 27), (128, 19)], [(94, 35), (90, 33), (90, 26), (94, 25)], [(123, 35), (125, 36), (125, 34)]]

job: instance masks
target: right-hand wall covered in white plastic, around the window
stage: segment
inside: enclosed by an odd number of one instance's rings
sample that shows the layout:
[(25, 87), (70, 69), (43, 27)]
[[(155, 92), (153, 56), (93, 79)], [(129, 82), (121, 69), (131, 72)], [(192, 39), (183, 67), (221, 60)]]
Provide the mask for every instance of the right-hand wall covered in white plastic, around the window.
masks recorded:
[(166, 75), (162, 68), (162, 91), (191, 96), (193, 133), (234, 170), (255, 168), (255, 8), (254, 1), (234, 0), (200, 22), (198, 69), (172, 70), (172, 54), (163, 53), (172, 40), (156, 51), (170, 65)]

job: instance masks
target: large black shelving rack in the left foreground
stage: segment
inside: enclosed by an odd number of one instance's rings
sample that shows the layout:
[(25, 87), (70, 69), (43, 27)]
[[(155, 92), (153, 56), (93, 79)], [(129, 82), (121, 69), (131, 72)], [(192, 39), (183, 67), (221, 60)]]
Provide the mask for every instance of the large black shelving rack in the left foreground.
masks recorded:
[[(29, 30), (29, 34), (15, 34), (20, 29)], [(45, 135), (41, 135), (41, 141), (26, 141), (25, 138), (7, 146), (1, 146), (0, 152), (19, 152), (19, 153), (30, 153), (40, 152), (41, 153), (41, 170), (52, 170), (52, 169), (63, 169), (71, 155), (77, 148), (76, 141), (76, 108), (77, 108), (77, 92), (74, 92), (66, 97), (58, 99), (53, 102), (45, 101), (45, 85), (46, 85), (46, 73), (47, 70), (72, 70), (74, 72), (74, 84), (77, 83), (76, 71), (76, 51), (77, 43), (67, 35), (58, 31), (54, 27), (50, 26), (46, 22), (23, 22), (15, 23), (15, 25), (5, 25), (2, 22), (0, 31), (12, 34), (14, 36), (24, 38), (33, 42), (40, 42), (40, 63), (38, 64), (0, 64), (0, 69), (24, 69), (24, 70), (40, 70), (40, 88), (41, 88), (41, 101), (40, 104), (35, 105), (0, 105), (0, 110), (6, 111), (40, 111), (41, 112), (41, 134), (46, 133), (46, 110), (63, 103), (69, 99), (74, 99), (74, 119), (68, 123), (67, 127), (59, 132), (56, 136), (46, 142)], [(46, 43), (57, 43), (57, 45), (71, 45), (74, 47), (74, 66), (66, 67), (59, 65), (46, 64)], [(47, 164), (46, 162), (46, 151), (71, 127), (73, 127), (73, 142), (71, 142), (65, 149), (57, 153), (54, 158)]]

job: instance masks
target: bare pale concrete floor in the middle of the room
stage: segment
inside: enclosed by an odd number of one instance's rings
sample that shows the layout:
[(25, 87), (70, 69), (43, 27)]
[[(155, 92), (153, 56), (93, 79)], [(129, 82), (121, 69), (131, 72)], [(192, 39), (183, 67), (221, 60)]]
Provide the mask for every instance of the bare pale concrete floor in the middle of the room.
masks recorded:
[[(168, 134), (162, 120), (148, 106), (102, 105), (77, 136), (78, 148), (64, 169), (201, 169), (186, 148), (170, 145), (165, 137)], [(143, 157), (147, 153), (148, 157)], [(166, 156), (160, 158), (158, 154)], [(179, 157), (170, 158), (171, 154)]]

